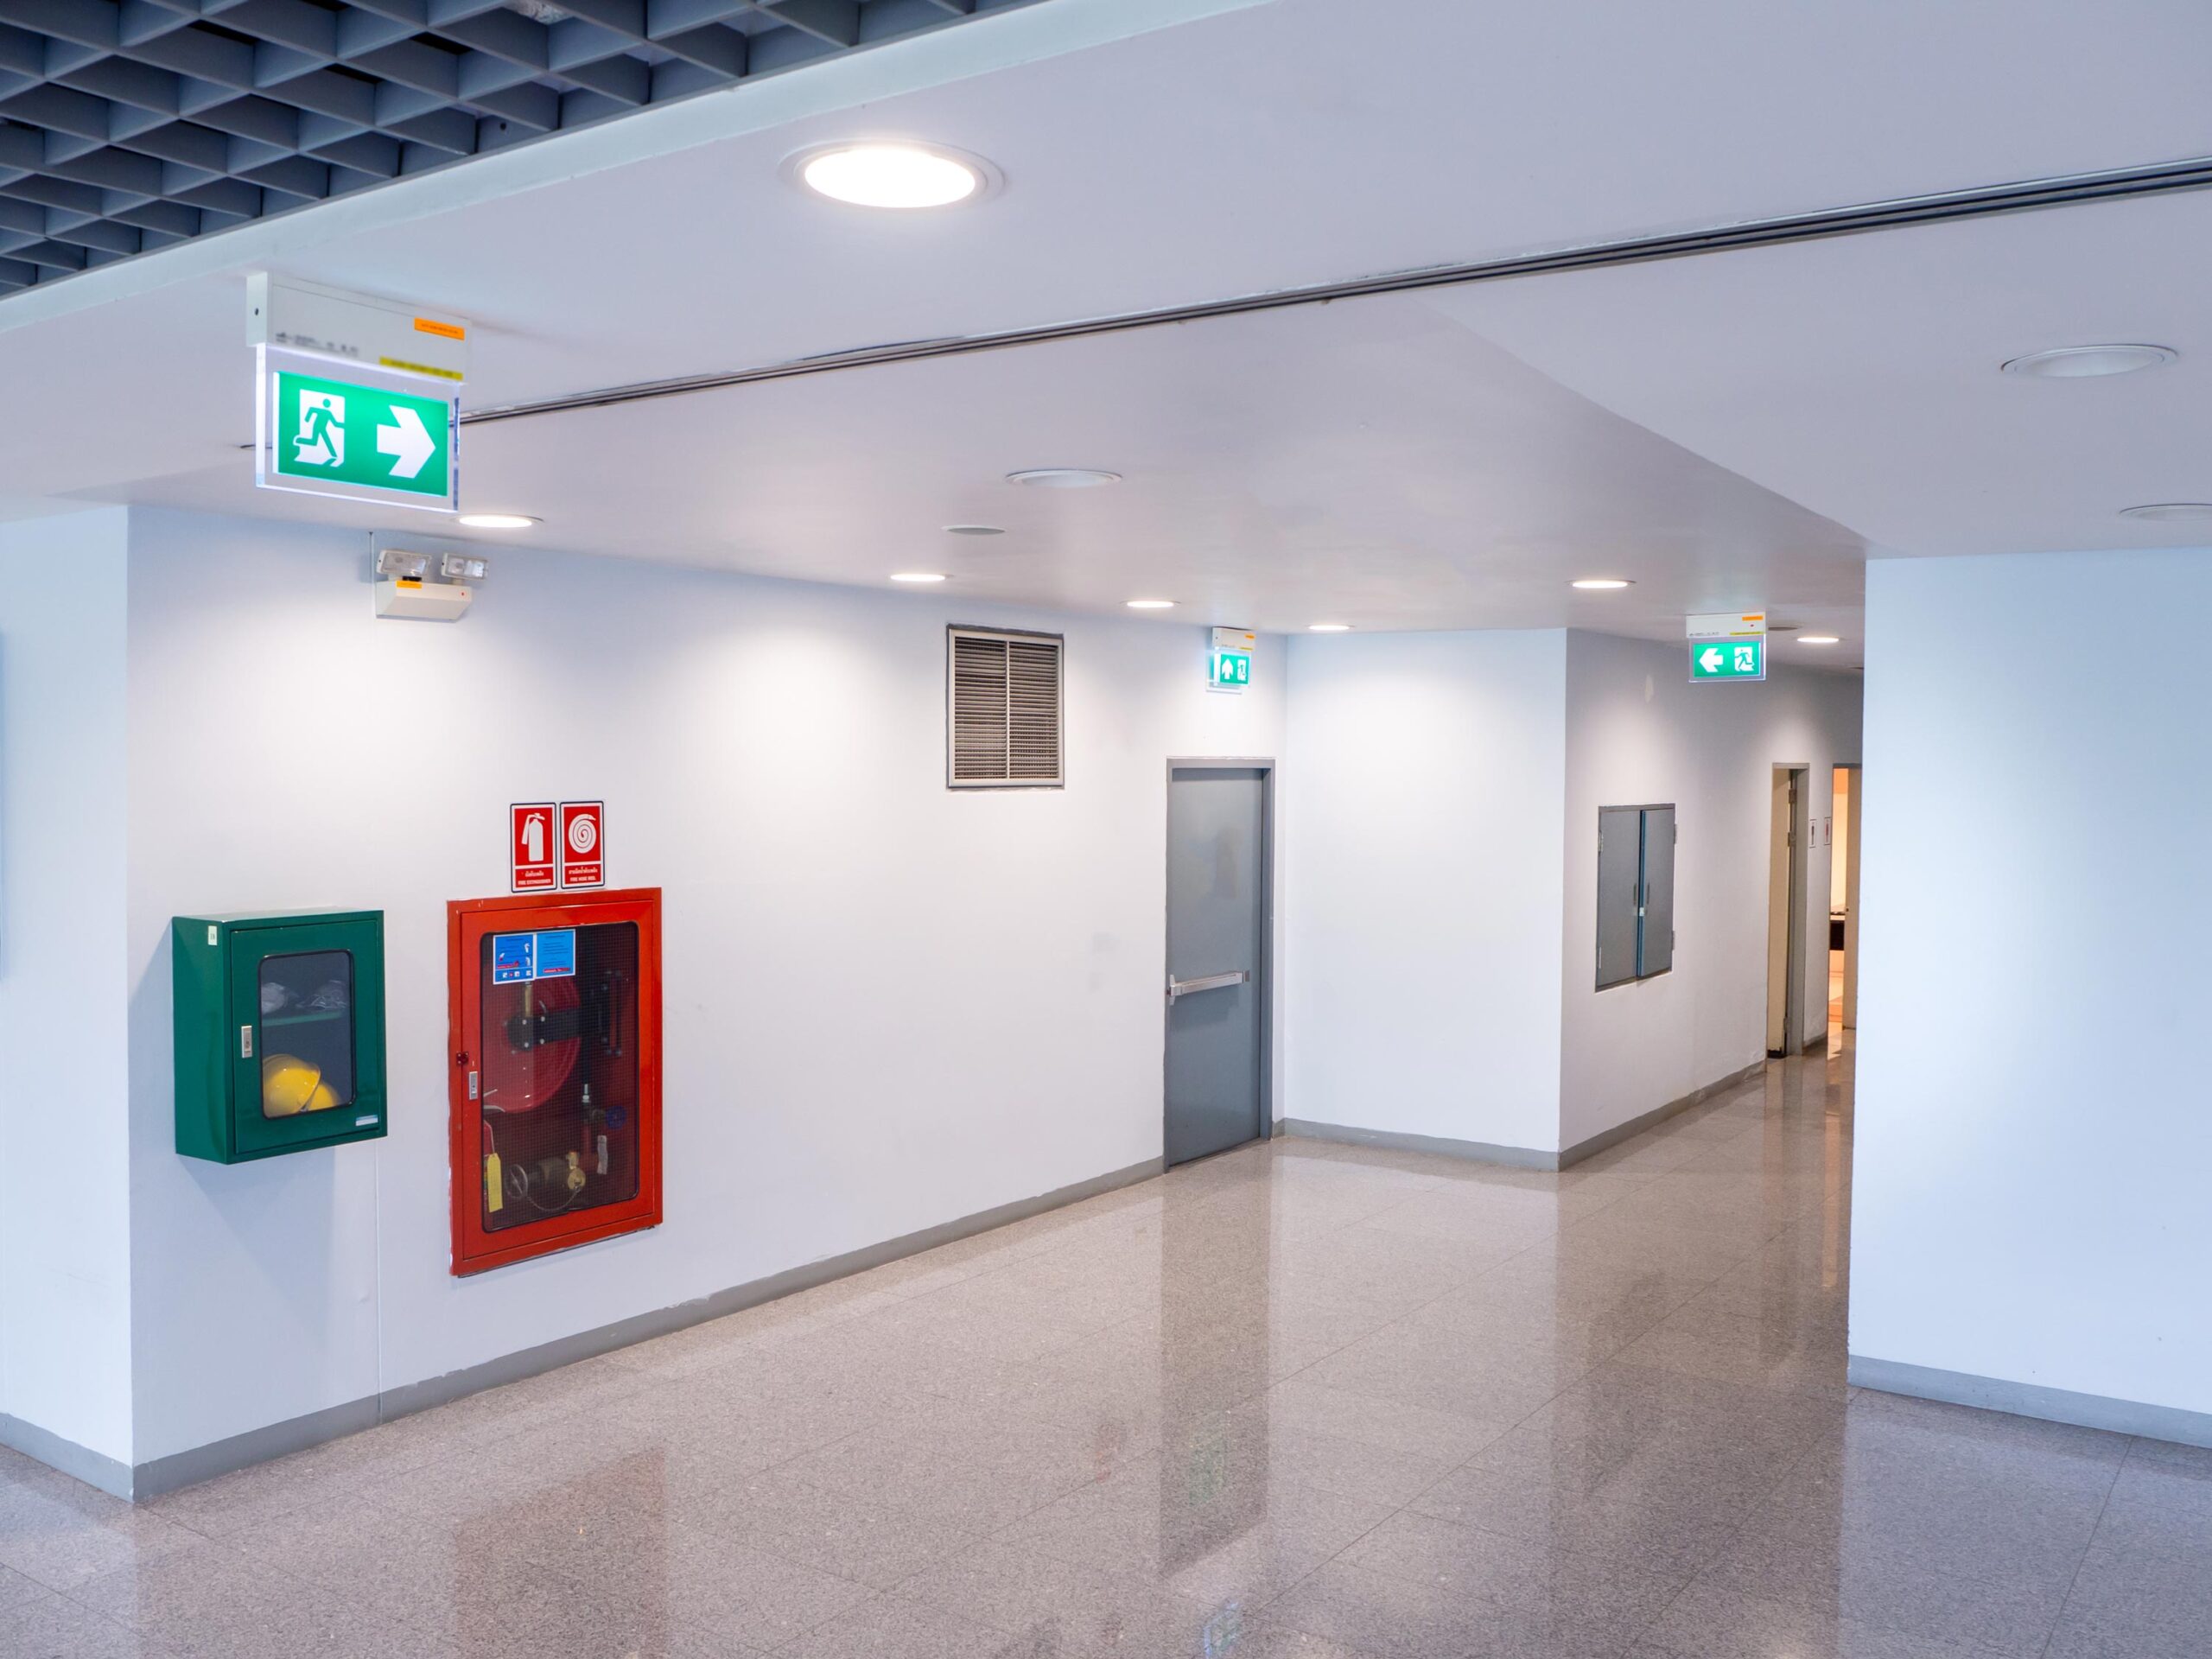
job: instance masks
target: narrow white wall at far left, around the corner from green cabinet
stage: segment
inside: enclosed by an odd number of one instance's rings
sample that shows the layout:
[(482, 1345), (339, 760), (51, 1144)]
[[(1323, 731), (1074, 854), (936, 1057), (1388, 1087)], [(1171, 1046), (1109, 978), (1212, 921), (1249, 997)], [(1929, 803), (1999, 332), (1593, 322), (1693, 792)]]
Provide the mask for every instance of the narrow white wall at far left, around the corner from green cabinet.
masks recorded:
[(128, 1464), (124, 557), (0, 526), (0, 1413)]

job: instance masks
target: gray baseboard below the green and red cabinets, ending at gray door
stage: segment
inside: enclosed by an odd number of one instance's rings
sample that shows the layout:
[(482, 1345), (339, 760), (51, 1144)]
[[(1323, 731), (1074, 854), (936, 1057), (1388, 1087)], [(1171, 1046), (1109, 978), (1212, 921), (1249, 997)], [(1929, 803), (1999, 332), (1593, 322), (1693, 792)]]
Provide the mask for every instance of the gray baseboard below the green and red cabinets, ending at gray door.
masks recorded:
[[(18, 1425), (7, 1416), (0, 1416), (0, 1442), (38, 1458), (44, 1464), (62, 1469), (77, 1480), (100, 1486), (102, 1491), (115, 1493), (117, 1498), (159, 1498), (161, 1493), (195, 1486), (201, 1480), (212, 1480), (215, 1475), (228, 1475), (237, 1469), (268, 1462), (270, 1458), (283, 1458), (290, 1451), (305, 1451), (307, 1447), (323, 1444), (325, 1440), (338, 1440), (343, 1436), (358, 1433), (361, 1429), (374, 1429), (378, 1422), (392, 1422), (394, 1418), (427, 1411), (434, 1405), (447, 1405), (449, 1400), (460, 1400), (469, 1394), (495, 1389), (502, 1383), (520, 1383), (522, 1378), (540, 1376), (562, 1365), (573, 1365), (575, 1360), (613, 1354), (617, 1347), (630, 1347), (633, 1343), (644, 1343), (655, 1336), (668, 1336), (670, 1332), (703, 1325), (706, 1321), (721, 1318), (723, 1314), (739, 1314), (748, 1307), (772, 1303), (779, 1296), (792, 1296), (801, 1290), (812, 1290), (814, 1285), (827, 1285), (832, 1279), (847, 1279), (856, 1272), (880, 1267), (887, 1261), (918, 1256), (925, 1250), (971, 1239), (978, 1232), (991, 1232), (991, 1228), (1026, 1221), (1029, 1217), (1044, 1214), (1046, 1210), (1062, 1210), (1104, 1192), (1117, 1192), (1119, 1188), (1135, 1186), (1137, 1181), (1150, 1181), (1164, 1168), (1164, 1159), (1150, 1157), (1121, 1170), (1093, 1175), (1088, 1181), (1075, 1181), (1073, 1186), (1040, 1192), (1033, 1199), (1000, 1203), (993, 1210), (978, 1210), (975, 1214), (958, 1217), (953, 1221), (940, 1221), (933, 1228), (922, 1228), (920, 1232), (909, 1232), (900, 1239), (885, 1239), (883, 1243), (863, 1245), (860, 1250), (847, 1250), (841, 1256), (827, 1256), (823, 1261), (810, 1261), (801, 1267), (787, 1267), (785, 1272), (770, 1274), (768, 1279), (730, 1285), (728, 1290), (717, 1290), (712, 1296), (699, 1296), (697, 1301), (677, 1303), (675, 1307), (659, 1307), (650, 1314), (635, 1314), (633, 1318), (622, 1318), (613, 1325), (599, 1325), (597, 1329), (577, 1332), (575, 1336), (540, 1343), (538, 1347), (526, 1347), (518, 1354), (502, 1354), (500, 1358), (467, 1365), (458, 1371), (447, 1371), (445, 1376), (431, 1376), (420, 1383), (403, 1383), (400, 1387), (385, 1389), (383, 1394), (312, 1411), (303, 1418), (288, 1418), (285, 1422), (248, 1429), (246, 1433), (230, 1436), (228, 1440), (212, 1440), (204, 1447), (192, 1447), (190, 1451), (153, 1458), (135, 1469), (71, 1444), (60, 1436), (38, 1429), (35, 1425)], [(18, 1429), (24, 1438), (15, 1438), (15, 1433), (11, 1433)]]

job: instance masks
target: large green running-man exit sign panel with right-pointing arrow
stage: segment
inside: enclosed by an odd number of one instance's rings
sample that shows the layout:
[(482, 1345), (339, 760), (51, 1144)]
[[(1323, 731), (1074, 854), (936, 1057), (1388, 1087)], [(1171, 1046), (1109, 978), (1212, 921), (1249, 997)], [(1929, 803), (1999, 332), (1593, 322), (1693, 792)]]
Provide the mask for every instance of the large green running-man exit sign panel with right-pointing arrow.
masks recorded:
[(268, 367), (259, 403), (263, 489), (453, 509), (451, 396)]

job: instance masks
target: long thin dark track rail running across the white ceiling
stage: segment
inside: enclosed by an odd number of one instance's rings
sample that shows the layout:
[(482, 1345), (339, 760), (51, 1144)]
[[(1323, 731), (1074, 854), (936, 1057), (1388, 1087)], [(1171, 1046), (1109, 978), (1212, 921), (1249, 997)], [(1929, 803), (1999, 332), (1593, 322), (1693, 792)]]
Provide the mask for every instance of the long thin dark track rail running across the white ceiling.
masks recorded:
[(1383, 276), (1354, 276), (1343, 283), (1281, 288), (1267, 294), (1243, 294), (1239, 299), (1170, 305), (1152, 312), (1093, 316), (1075, 323), (1048, 323), (1042, 327), (1018, 327), (998, 334), (958, 334), (936, 341), (865, 345), (852, 352), (830, 352), (823, 356), (794, 358), (790, 363), (770, 363), (754, 369), (692, 374), (670, 380), (639, 380), (635, 385), (602, 387), (597, 392), (575, 392), (562, 398), (540, 398), (535, 403), (473, 409), (462, 414), (460, 420), (462, 425), (526, 420), (531, 416), (568, 414), (575, 409), (608, 409), (622, 403), (681, 398), (695, 392), (721, 392), (726, 387), (761, 385), (768, 380), (796, 380), (807, 374), (834, 374), (838, 369), (865, 369), (885, 363), (922, 363), (942, 356), (969, 356), (973, 352), (1006, 352), (1020, 345), (1082, 341), (1099, 334), (1126, 334), (1139, 327), (1201, 323), (1214, 316), (1281, 312), (1294, 305), (1327, 305), (1338, 299), (1418, 294), (1427, 288), (1493, 283), (1509, 276), (1546, 276), (1553, 272), (1646, 265), (1659, 259), (1690, 259), (1694, 254), (1721, 254), (1741, 248), (1774, 248), (1792, 241), (1825, 241), (1829, 237), (1858, 237), (1874, 230), (1902, 230), (1907, 226), (1953, 223), (1960, 219), (1986, 219), (2004, 212), (2033, 212), (2039, 208), (2066, 208), (2084, 201), (2115, 201), (2203, 188), (2212, 188), (2212, 157), (2166, 161), (2159, 166), (2124, 168), (2112, 173), (2075, 173), (2057, 179), (2028, 179), (2022, 184), (1997, 184), (1975, 190), (1949, 190), (1942, 195), (1900, 197), (1896, 201), (1869, 201), (1856, 208), (1825, 208), (1820, 212), (1801, 212), (1781, 219), (1743, 219), (1739, 223), (1681, 230), (1663, 237), (1597, 241), (1577, 248), (1513, 254), (1506, 259), (1486, 259), (1467, 265), (1429, 265), (1425, 270), (1402, 270)]

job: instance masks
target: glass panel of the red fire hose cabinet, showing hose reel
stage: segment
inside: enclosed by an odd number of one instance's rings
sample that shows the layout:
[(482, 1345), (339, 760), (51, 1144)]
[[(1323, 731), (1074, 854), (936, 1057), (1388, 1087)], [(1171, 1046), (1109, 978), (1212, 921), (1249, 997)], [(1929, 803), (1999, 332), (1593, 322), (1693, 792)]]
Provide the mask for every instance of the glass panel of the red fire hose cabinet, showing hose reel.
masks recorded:
[(484, 933), (487, 1232), (637, 1197), (637, 922)]

